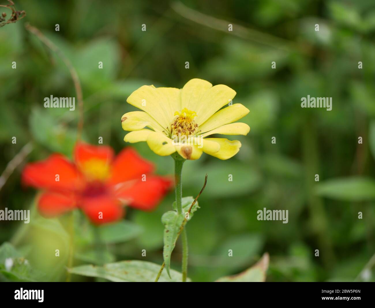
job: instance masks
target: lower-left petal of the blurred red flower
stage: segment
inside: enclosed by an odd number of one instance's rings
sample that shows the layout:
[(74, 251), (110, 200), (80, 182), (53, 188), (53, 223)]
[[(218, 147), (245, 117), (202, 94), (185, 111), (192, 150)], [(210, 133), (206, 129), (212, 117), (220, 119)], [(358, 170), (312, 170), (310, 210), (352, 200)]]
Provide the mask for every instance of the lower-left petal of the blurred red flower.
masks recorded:
[(45, 217), (54, 217), (65, 212), (74, 210), (76, 206), (73, 193), (42, 193), (38, 200), (38, 209), (40, 214)]

